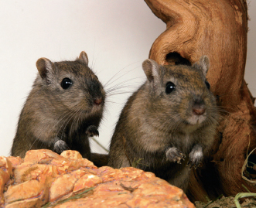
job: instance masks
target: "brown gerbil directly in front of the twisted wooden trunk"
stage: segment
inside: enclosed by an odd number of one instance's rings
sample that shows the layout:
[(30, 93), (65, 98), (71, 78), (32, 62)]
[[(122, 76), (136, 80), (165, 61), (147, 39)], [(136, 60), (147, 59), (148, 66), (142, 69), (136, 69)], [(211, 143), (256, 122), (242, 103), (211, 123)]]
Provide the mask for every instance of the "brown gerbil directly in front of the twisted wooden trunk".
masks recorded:
[(217, 104), (206, 80), (207, 56), (193, 66), (145, 60), (147, 80), (125, 104), (111, 138), (108, 165), (154, 172), (186, 192), (189, 170), (209, 151)]

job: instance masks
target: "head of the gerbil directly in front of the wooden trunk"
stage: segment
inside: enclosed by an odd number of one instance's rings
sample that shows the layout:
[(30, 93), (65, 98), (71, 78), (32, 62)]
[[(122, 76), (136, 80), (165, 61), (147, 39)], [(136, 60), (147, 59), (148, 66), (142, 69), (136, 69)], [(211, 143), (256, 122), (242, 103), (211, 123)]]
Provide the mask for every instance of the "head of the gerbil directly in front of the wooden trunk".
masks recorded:
[(142, 68), (148, 78), (149, 110), (162, 128), (196, 129), (217, 122), (217, 105), (206, 75), (207, 56), (193, 66), (161, 66), (145, 60)]

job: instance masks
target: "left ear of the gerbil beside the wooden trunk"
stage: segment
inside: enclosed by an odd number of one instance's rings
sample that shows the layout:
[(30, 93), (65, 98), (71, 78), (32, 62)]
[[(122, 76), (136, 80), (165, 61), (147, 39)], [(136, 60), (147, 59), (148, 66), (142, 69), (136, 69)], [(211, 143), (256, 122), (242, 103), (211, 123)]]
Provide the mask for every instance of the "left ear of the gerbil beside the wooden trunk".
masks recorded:
[(154, 60), (148, 59), (142, 63), (142, 68), (148, 81), (156, 87), (159, 84), (159, 64)]

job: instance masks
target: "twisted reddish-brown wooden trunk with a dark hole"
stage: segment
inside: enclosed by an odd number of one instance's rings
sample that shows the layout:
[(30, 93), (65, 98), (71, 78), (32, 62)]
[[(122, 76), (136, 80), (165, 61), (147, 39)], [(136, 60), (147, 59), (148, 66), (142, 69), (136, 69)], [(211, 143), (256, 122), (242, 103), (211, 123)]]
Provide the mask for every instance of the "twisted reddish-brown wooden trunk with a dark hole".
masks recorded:
[(195, 63), (210, 59), (207, 80), (217, 96), (221, 119), (210, 162), (193, 171), (191, 200), (205, 201), (220, 194), (232, 196), (256, 188), (241, 177), (247, 152), (256, 147), (254, 97), (244, 81), (247, 53), (247, 2), (245, 0), (145, 0), (166, 22), (149, 58), (174, 64), (176, 56)]

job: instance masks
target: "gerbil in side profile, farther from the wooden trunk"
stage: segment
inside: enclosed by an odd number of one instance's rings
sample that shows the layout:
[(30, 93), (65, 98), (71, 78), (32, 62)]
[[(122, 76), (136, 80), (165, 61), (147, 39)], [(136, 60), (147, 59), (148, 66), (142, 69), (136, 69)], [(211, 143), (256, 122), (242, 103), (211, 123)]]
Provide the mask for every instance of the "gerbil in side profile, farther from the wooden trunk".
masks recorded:
[(11, 154), (30, 149), (77, 150), (90, 159), (88, 136), (98, 135), (105, 91), (83, 51), (74, 61), (36, 62), (38, 75), (19, 116)]

